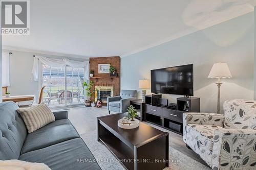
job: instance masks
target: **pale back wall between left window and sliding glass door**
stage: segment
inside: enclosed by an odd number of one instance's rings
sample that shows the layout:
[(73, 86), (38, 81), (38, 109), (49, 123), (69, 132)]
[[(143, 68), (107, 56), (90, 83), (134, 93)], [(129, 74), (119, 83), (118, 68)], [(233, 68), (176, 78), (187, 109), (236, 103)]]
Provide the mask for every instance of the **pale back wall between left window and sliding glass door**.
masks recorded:
[[(36, 101), (38, 101), (39, 90), (41, 84), (34, 81), (33, 74), (31, 73), (33, 67), (33, 55), (52, 57), (52, 58), (69, 58), (63, 56), (55, 56), (49, 54), (37, 54), (31, 52), (21, 52), (14, 50), (3, 50), (11, 52), (10, 57), (10, 84), (8, 91), (11, 95), (23, 95), (23, 94), (35, 94)], [(1, 53), (2, 54), (2, 53)], [(85, 59), (76, 59), (78, 61), (84, 61)], [(2, 80), (2, 79), (1, 79)], [(1, 93), (2, 94), (2, 93)]]

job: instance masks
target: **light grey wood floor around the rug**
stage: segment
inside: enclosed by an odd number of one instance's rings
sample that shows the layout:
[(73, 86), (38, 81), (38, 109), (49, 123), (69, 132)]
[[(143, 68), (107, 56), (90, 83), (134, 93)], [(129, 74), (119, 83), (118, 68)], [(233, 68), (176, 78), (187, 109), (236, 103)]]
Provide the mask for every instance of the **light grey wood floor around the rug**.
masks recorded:
[[(112, 112), (114, 113), (114, 112)], [(102, 108), (93, 108), (93, 107), (76, 107), (68, 109), (68, 115), (71, 123), (75, 126), (76, 130), (79, 134), (83, 134), (86, 132), (94, 131), (97, 129), (97, 117), (108, 115), (108, 110), (106, 107)], [(179, 134), (174, 132), (170, 132), (163, 128), (154, 126), (152, 124), (146, 123), (151, 125), (157, 129), (160, 129), (164, 132), (169, 133), (169, 145), (170, 147), (175, 148), (176, 150), (180, 151), (181, 153), (187, 155), (188, 157), (195, 159), (201, 162), (204, 165), (207, 165), (194, 151), (189, 150), (186, 148), (185, 143), (183, 142), (183, 137)]]

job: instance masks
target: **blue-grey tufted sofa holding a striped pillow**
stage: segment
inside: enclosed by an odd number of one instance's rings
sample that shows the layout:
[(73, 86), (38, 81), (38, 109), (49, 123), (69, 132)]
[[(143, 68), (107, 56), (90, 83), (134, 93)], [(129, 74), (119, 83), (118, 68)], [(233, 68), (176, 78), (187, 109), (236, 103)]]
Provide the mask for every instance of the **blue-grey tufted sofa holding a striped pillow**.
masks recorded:
[[(0, 160), (41, 162), (52, 170), (100, 169), (67, 111), (54, 112), (55, 122), (28, 133), (16, 109), (14, 102), (0, 104)], [(92, 161), (79, 163), (77, 159)]]

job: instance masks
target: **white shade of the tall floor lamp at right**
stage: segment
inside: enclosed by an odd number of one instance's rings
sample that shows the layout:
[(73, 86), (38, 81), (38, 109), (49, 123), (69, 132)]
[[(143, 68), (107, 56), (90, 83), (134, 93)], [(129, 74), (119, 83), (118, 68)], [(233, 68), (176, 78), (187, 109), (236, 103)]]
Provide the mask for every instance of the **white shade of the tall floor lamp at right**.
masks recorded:
[(227, 63), (215, 63), (210, 70), (208, 78), (232, 78)]

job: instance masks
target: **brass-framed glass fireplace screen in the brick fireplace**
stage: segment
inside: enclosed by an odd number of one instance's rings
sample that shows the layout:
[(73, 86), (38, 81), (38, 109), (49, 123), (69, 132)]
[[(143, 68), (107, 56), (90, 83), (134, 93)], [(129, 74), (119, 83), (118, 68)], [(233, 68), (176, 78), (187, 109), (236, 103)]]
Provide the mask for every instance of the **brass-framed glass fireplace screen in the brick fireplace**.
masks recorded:
[(114, 96), (113, 86), (95, 86), (95, 89), (98, 89), (95, 92), (95, 102), (97, 99), (101, 99), (103, 103), (106, 103), (107, 98)]

